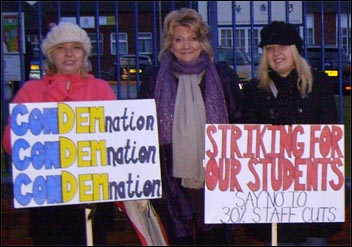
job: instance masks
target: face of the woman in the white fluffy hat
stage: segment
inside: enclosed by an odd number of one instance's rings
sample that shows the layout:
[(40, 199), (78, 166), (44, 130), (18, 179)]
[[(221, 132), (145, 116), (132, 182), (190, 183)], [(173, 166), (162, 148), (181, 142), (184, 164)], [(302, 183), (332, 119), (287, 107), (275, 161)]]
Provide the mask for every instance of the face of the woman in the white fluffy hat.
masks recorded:
[(73, 75), (81, 72), (84, 55), (84, 50), (80, 43), (67, 42), (56, 45), (51, 58), (58, 74)]

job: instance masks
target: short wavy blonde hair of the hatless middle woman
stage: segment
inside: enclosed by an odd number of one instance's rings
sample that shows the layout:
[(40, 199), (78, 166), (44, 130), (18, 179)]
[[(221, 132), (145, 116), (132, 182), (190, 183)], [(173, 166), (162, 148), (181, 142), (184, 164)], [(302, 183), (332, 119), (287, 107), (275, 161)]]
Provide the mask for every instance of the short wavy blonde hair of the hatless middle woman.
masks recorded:
[(165, 56), (165, 53), (172, 46), (172, 40), (175, 28), (184, 26), (190, 28), (196, 35), (206, 53), (211, 60), (214, 60), (213, 49), (210, 45), (210, 32), (208, 26), (203, 22), (202, 16), (194, 9), (180, 8), (171, 11), (164, 20), (163, 43), (159, 52), (159, 62)]

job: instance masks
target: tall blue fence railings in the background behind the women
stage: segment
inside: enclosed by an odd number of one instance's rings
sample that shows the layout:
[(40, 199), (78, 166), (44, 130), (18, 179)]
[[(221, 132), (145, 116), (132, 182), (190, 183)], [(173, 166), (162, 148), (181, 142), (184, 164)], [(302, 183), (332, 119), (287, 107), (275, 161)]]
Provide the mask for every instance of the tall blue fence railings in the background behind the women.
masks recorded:
[[(118, 99), (136, 98), (136, 91), (141, 83), (139, 73), (136, 73), (135, 78), (132, 78), (130, 73), (127, 73), (127, 77), (123, 75), (120, 55), (134, 54), (137, 71), (142, 67), (140, 58), (145, 55), (150, 57), (152, 64), (157, 65), (157, 54), (160, 50), (160, 35), (163, 18), (169, 11), (180, 7), (195, 8), (202, 13), (212, 32), (211, 43), (215, 53), (218, 47), (222, 45), (221, 42), (225, 38), (225, 36), (222, 36), (220, 30), (229, 31), (232, 36), (228, 37), (228, 39), (231, 40), (232, 48), (240, 48), (250, 54), (252, 68), (250, 77), (254, 77), (259, 31), (265, 23), (258, 24), (256, 22), (256, 17), (254, 16), (256, 13), (255, 1), (247, 1), (249, 4), (248, 23), (237, 21), (240, 9), (239, 4), (243, 3), (243, 1), (232, 1), (230, 9), (232, 16), (229, 16), (229, 22), (225, 24), (220, 23), (219, 19), (223, 18), (222, 13), (225, 13), (224, 9), (218, 7), (221, 2), (222, 1), (134, 1), (126, 3), (120, 1), (37, 1), (36, 4), (30, 5), (24, 1), (3, 1), (1, 4), (1, 13), (2, 18), (5, 19), (2, 19), (1, 22), (1, 33), (3, 37), (1, 51), (2, 124), (6, 122), (8, 116), (8, 103), (11, 101), (18, 88), (28, 79), (29, 72), (26, 69), (28, 61), (26, 61), (27, 52), (25, 49), (28, 47), (28, 45), (26, 45), (28, 43), (25, 41), (30, 39), (31, 44), (39, 48), (41, 40), (48, 30), (48, 24), (50, 22), (57, 23), (59, 20), (63, 19), (74, 21), (87, 30), (93, 43), (93, 55), (90, 58), (93, 68), (92, 73), (97, 77), (109, 80)], [(280, 12), (284, 14), (284, 20), (290, 22), (292, 20), (292, 16), (290, 15), (293, 8), (292, 3), (289, 1), (282, 1), (281, 3), (283, 4), (283, 9), (280, 10)], [(313, 18), (317, 19), (311, 21), (314, 22), (314, 30), (320, 30), (319, 35), (321, 37), (320, 42), (316, 42), (318, 46), (325, 47), (326, 38), (324, 37), (333, 35), (336, 36), (335, 45), (338, 48), (342, 48), (343, 44), (347, 44), (347, 47), (350, 47), (350, 4), (347, 5), (346, 9), (345, 5), (341, 7), (341, 4), (346, 4), (347, 2), (336, 1), (334, 2), (334, 9), (331, 10), (331, 3), (324, 1), (315, 2), (315, 5), (312, 5), (313, 2), (310, 1), (302, 1), (300, 3), (302, 6), (302, 23), (297, 24), (297, 26), (306, 44), (311, 42), (310, 38), (314, 36), (314, 33), (310, 33), (312, 29), (307, 25), (308, 14), (310, 14), (309, 18), (314, 14), (315, 17)], [(277, 4), (277, 2), (275, 2), (275, 4)], [(277, 10), (273, 8), (273, 5), (274, 2), (271, 1), (268, 1), (267, 5), (265, 5), (267, 22), (276, 18), (275, 11)], [(221, 16), (219, 16), (219, 13)], [(334, 13), (334, 16), (336, 16), (336, 33), (334, 31), (335, 26), (329, 27), (329, 23), (327, 23), (326, 20), (331, 13)], [(17, 21), (18, 25), (15, 23)], [(347, 28), (342, 28), (342, 26)], [(244, 37), (238, 36), (238, 34), (241, 33), (238, 33), (236, 30), (239, 29), (244, 30), (246, 34)], [(145, 37), (143, 37), (143, 35), (145, 35)], [(245, 40), (243, 40), (243, 38), (245, 38)], [(15, 49), (15, 52), (5, 52), (4, 40), (6, 39), (12, 42), (8, 48)], [(244, 46), (239, 45), (241, 39), (245, 43)], [(326, 55), (324, 53), (325, 49), (321, 50), (322, 59), (324, 60), (324, 56)], [(43, 57), (40, 50), (34, 49), (34, 51), (39, 51), (37, 66), (39, 68), (38, 73), (41, 75), (43, 73)], [(306, 48), (304, 52), (305, 55), (307, 55)], [(343, 123), (343, 80), (350, 81), (350, 76), (349, 79), (346, 79), (343, 78), (342, 75), (344, 66), (342, 64), (342, 55), (344, 52), (346, 51), (339, 49), (337, 67), (340, 72), (338, 77), (338, 94), (340, 95), (339, 113), (341, 123)], [(350, 54), (350, 50), (347, 52)], [(234, 57), (233, 64), (237, 72), (236, 57)], [(324, 63), (321, 64), (321, 69), (324, 69)], [(123, 79), (124, 76), (125, 79)]]

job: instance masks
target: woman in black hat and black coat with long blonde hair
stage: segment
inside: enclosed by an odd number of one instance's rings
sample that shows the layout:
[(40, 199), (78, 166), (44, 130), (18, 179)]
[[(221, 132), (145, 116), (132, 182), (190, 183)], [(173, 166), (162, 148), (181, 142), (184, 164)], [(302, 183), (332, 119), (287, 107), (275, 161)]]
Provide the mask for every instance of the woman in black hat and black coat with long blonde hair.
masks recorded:
[[(263, 55), (257, 77), (244, 91), (244, 123), (337, 124), (333, 83), (324, 72), (311, 70), (301, 56), (303, 41), (296, 28), (273, 21), (260, 34)], [(342, 223), (280, 223), (278, 241), (324, 245), (327, 237), (341, 226)], [(270, 242), (270, 231), (270, 224), (246, 225), (246, 234), (259, 241)]]

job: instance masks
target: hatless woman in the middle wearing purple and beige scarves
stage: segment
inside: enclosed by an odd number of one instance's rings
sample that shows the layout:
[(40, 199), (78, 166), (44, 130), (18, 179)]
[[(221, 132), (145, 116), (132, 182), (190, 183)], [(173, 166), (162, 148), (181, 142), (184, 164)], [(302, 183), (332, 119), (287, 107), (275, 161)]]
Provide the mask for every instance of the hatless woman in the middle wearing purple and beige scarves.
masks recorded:
[(241, 117), (238, 77), (214, 63), (209, 29), (194, 9), (164, 20), (160, 67), (145, 71), (139, 98), (157, 106), (163, 195), (151, 203), (172, 245), (230, 244), (227, 225), (204, 224), (205, 124)]

